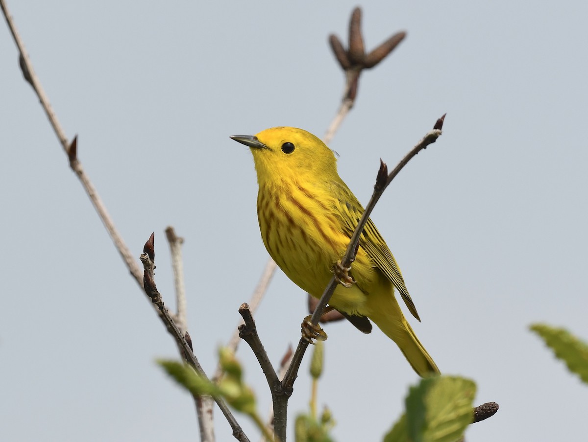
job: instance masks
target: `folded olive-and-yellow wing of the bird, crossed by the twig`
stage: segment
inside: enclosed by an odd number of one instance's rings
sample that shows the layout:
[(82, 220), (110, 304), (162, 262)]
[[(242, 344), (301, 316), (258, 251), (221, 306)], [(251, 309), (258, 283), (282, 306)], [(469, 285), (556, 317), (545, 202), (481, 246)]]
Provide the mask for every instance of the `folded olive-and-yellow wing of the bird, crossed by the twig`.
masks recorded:
[[(360, 217), (363, 215), (363, 207), (345, 183), (343, 183), (343, 187), (345, 187), (345, 189), (339, 190), (345, 190), (343, 195), (345, 195), (346, 198), (345, 201), (339, 200), (340, 210), (342, 213), (343, 228), (346, 230), (348, 236), (351, 237), (355, 227), (358, 226)], [(380, 269), (382, 273), (386, 275), (387, 279), (394, 284), (406, 306), (410, 310), (410, 313), (420, 321), (419, 313), (417, 313), (415, 303), (413, 303), (410, 294), (406, 289), (398, 264), (371, 219), (368, 220), (368, 223), (366, 223), (366, 226), (363, 229), (363, 233), (359, 238), (359, 245), (366, 251), (366, 253), (368, 253), (368, 256), (373, 260), (378, 269)]]

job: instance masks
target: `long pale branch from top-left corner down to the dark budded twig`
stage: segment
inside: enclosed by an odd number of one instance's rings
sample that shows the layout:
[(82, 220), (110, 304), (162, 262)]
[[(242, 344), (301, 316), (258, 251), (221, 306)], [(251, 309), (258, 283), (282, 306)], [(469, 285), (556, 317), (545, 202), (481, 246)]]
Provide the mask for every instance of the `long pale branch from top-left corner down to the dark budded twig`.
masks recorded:
[[(111, 236), (112, 242), (114, 243), (116, 250), (118, 250), (119, 254), (121, 255), (123, 261), (126, 264), (126, 267), (131, 272), (132, 276), (135, 278), (136, 282), (139, 286), (143, 287), (143, 276), (141, 272), (141, 267), (138, 266), (136, 263), (135, 257), (131, 253), (131, 250), (126, 246), (122, 236), (116, 230), (114, 223), (106, 207), (102, 203), (102, 200), (98, 196), (98, 192), (96, 192), (95, 187), (92, 185), (88, 175), (84, 172), (81, 163), (76, 158), (76, 150), (77, 150), (77, 136), (74, 138), (74, 141), (71, 143), (68, 142), (68, 138), (65, 136), (64, 129), (59, 124), (59, 120), (55, 115), (55, 112), (51, 108), (51, 103), (49, 103), (49, 99), (45, 94), (43, 87), (41, 86), (41, 82), (39, 78), (36, 76), (35, 70), (33, 69), (31, 59), (26, 53), (24, 42), (22, 41), (21, 36), (18, 34), (16, 30), (16, 26), (6, 7), (6, 2), (4, 0), (0, 0), (0, 8), (2, 8), (2, 12), (4, 13), (4, 18), (6, 19), (6, 24), (8, 24), (8, 28), (14, 38), (14, 42), (16, 43), (16, 47), (19, 51), (19, 65), (21, 66), (22, 73), (25, 77), (25, 80), (28, 81), (32, 88), (34, 89), (36, 95), (39, 97), (39, 101), (41, 102), (41, 106), (45, 111), (47, 118), (49, 119), (49, 123), (51, 123), (52, 128), (55, 131), (55, 135), (57, 136), (59, 143), (61, 143), (62, 147), (64, 148), (65, 154), (68, 155), (69, 158), (69, 165), (74, 170), (76, 175), (78, 176), (80, 182), (88, 197), (90, 198), (96, 212), (98, 212), (98, 216), (102, 220), (103, 225), (106, 227), (109, 235)], [(73, 155), (72, 155), (73, 154)]]

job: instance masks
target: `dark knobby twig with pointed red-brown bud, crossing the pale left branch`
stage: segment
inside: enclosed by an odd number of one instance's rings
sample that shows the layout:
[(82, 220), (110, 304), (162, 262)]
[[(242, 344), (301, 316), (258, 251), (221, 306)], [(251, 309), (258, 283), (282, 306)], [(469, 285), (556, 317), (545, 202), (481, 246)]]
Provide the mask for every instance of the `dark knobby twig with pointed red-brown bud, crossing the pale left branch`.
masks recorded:
[[(198, 359), (194, 355), (190, 344), (188, 343), (188, 341), (186, 341), (186, 338), (182, 334), (182, 331), (178, 328), (178, 326), (176, 326), (175, 322), (173, 322), (173, 319), (169, 314), (168, 309), (166, 309), (166, 307), (163, 304), (161, 293), (159, 293), (157, 286), (155, 284), (153, 273), (153, 270), (155, 269), (155, 264), (153, 264), (153, 260), (151, 259), (151, 256), (149, 256), (151, 255), (151, 253), (149, 252), (150, 251), (148, 250), (142, 253), (139, 257), (139, 259), (143, 263), (143, 268), (145, 269), (143, 272), (143, 286), (145, 287), (145, 293), (147, 293), (147, 295), (151, 298), (153, 304), (155, 304), (158, 307), (159, 311), (162, 313), (161, 317), (163, 319), (163, 322), (175, 338), (178, 345), (181, 347), (186, 362), (196, 371), (196, 373), (198, 373), (203, 378), (208, 379)], [(225, 401), (223, 401), (220, 397), (215, 397), (213, 399), (219, 406), (220, 411), (222, 411), (222, 413), (225, 415), (230, 427), (233, 429), (233, 436), (240, 442), (248, 442), (249, 439), (247, 438), (247, 436), (245, 436), (245, 433), (243, 433), (243, 430), (237, 423), (233, 414), (230, 412), (229, 407), (227, 406)]]

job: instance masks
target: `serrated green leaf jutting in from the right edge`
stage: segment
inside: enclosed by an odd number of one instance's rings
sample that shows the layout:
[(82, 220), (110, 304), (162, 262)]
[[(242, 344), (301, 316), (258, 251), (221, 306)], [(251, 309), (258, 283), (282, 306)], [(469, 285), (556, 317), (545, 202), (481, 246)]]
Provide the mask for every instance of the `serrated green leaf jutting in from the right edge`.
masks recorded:
[(566, 329), (557, 329), (547, 324), (531, 324), (529, 328), (543, 338), (555, 356), (566, 363), (568, 370), (588, 384), (588, 345), (585, 342)]

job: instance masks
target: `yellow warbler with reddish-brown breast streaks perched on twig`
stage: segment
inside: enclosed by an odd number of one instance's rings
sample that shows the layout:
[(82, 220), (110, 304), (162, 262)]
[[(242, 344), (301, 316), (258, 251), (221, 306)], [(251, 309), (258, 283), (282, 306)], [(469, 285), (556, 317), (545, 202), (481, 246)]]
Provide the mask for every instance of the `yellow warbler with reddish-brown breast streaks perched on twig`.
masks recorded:
[[(320, 298), (363, 213), (337, 173), (333, 151), (312, 133), (296, 128), (231, 138), (253, 153), (259, 229), (266, 249), (295, 284)], [(362, 233), (350, 276), (356, 282), (339, 285), (330, 306), (362, 331), (371, 330), (366, 318), (375, 322), (420, 376), (439, 373), (396, 301), (395, 287), (419, 319), (398, 264), (372, 220)]]

